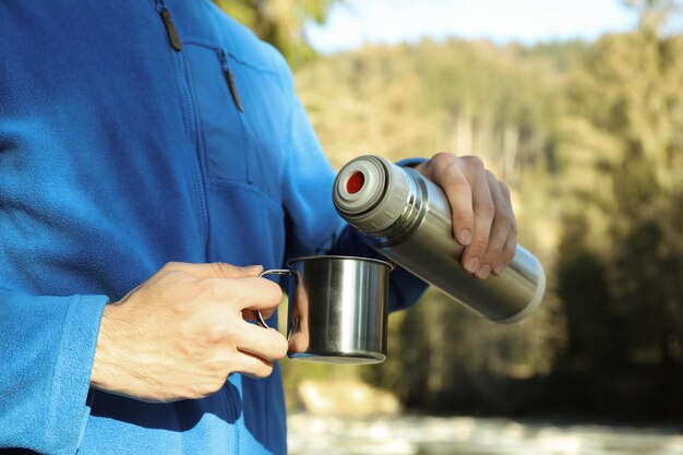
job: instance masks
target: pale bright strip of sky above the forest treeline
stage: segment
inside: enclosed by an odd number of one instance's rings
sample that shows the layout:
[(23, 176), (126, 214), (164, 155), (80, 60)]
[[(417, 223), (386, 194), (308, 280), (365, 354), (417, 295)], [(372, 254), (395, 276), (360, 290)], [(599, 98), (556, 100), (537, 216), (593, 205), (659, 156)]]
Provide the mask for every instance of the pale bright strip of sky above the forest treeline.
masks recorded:
[(322, 53), (421, 38), (496, 43), (583, 38), (633, 29), (636, 12), (621, 0), (343, 0), (325, 25), (305, 33)]

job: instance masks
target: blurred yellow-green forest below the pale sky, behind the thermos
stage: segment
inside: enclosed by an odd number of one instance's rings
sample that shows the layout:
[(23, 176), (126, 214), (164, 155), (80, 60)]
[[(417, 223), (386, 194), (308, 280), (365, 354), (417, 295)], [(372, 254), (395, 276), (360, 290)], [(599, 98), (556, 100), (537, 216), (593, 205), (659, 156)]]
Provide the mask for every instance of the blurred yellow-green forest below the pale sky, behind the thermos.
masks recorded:
[[(300, 3), (322, 21), (332, 2)], [(367, 153), (481, 156), (549, 277), (539, 311), (515, 325), (430, 290), (391, 315), (380, 366), (284, 362), (292, 406), (301, 379), (352, 374), (426, 412), (680, 414), (683, 35), (668, 26), (675, 2), (631, 4), (637, 27), (589, 43), (423, 40), (329, 57), (279, 46), (336, 168)]]

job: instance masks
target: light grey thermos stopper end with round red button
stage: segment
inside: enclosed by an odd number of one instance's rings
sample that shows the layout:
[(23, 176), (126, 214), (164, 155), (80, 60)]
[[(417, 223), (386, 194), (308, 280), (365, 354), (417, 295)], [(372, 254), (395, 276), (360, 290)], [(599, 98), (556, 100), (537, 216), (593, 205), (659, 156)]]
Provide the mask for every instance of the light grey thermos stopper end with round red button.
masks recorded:
[(393, 225), (406, 209), (409, 195), (406, 173), (376, 155), (349, 161), (337, 175), (333, 189), (339, 214), (364, 234)]

